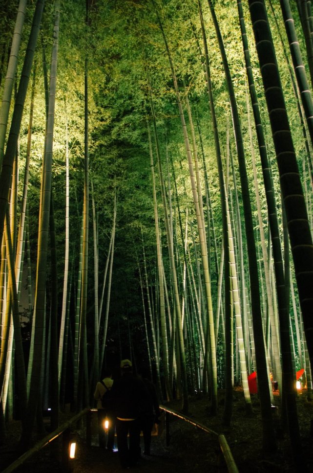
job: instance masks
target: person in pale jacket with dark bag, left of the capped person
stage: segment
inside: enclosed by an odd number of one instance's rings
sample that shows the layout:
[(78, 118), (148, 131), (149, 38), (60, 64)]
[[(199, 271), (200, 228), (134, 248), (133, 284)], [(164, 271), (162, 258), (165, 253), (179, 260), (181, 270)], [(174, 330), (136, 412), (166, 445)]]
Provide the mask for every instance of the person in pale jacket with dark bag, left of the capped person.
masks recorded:
[[(94, 399), (97, 401), (98, 409), (98, 432), (99, 447), (112, 451), (114, 448), (115, 434), (115, 416), (113, 413), (113, 405), (111, 400), (111, 388), (113, 380), (111, 373), (104, 372), (104, 379), (98, 381), (94, 392)], [(105, 427), (104, 421), (108, 420), (107, 443), (105, 445)]]

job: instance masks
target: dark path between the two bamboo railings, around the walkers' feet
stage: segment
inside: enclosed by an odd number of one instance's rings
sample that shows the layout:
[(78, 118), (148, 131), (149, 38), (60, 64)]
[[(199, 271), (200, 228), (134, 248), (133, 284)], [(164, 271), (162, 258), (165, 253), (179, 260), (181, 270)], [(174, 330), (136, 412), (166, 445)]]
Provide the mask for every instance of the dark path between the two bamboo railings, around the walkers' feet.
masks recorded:
[[(170, 443), (167, 446), (166, 429), (153, 435), (151, 439), (151, 455), (142, 454), (138, 465), (131, 469), (132, 472), (147, 473), (203, 473), (227, 472), (224, 464), (219, 464), (216, 440), (205, 431), (181, 421), (177, 418), (170, 420)], [(74, 473), (116, 473), (124, 471), (119, 462), (118, 452), (109, 452), (98, 446), (97, 416), (91, 422), (91, 446), (85, 440), (85, 428), (74, 430), (77, 442), (76, 458), (70, 464)], [(61, 444), (62, 439), (57, 440)], [(116, 439), (115, 439), (116, 445)], [(141, 437), (143, 451), (143, 438)], [(60, 451), (61, 449), (59, 449)], [(51, 446), (44, 449), (23, 465), (16, 472), (63, 472), (60, 454), (51, 452)], [(1, 468), (2, 471), (2, 468)]]

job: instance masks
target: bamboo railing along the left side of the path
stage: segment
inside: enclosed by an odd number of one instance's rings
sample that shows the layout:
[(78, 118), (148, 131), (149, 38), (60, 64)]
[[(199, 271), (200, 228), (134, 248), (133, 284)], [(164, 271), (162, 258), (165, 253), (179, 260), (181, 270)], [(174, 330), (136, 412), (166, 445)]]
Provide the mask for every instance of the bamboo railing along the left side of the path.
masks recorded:
[[(71, 417), (67, 422), (62, 424), (61, 427), (57, 428), (53, 432), (51, 432), (49, 435), (46, 435), (42, 440), (37, 442), (37, 444), (32, 447), (30, 450), (27, 450), (25, 453), (23, 453), (17, 460), (15, 460), (13, 463), (11, 463), (5, 470), (2, 470), (1, 473), (11, 473), (14, 472), (17, 468), (19, 468), (23, 463), (25, 463), (26, 460), (28, 460), (31, 456), (35, 455), (38, 453), (40, 450), (42, 450), (44, 447), (47, 445), (51, 444), (54, 440), (56, 440), (58, 437), (62, 435), (62, 469), (63, 472), (69, 472), (71, 470), (71, 465), (70, 465), (70, 440), (71, 440), (71, 427), (73, 424), (76, 424), (80, 419), (83, 418), (83, 416), (89, 416), (90, 415), (90, 408), (86, 407), (84, 410), (76, 414), (75, 416)], [(90, 422), (86, 423), (87, 427), (90, 425)], [(86, 439), (88, 442), (88, 436), (90, 438), (90, 431), (89, 429), (86, 428)]]

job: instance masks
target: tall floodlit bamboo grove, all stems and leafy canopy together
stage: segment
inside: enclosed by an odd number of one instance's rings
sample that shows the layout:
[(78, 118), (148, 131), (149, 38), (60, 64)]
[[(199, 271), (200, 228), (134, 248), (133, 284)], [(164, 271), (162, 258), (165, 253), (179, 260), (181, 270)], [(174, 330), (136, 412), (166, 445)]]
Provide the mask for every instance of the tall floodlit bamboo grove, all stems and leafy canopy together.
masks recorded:
[(312, 87), (311, 0), (0, 0), (0, 443), (127, 358), (299, 460)]

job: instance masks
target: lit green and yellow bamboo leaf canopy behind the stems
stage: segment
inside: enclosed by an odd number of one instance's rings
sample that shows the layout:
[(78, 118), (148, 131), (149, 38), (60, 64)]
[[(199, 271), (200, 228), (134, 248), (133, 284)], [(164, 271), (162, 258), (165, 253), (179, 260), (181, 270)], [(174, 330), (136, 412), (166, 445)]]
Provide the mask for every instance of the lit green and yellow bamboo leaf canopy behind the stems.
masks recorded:
[[(14, 28), (17, 1), (4, 1), (1, 6), (0, 30), (0, 64), (3, 83), (6, 66), (6, 55)], [(245, 3), (245, 2), (244, 2)], [(249, 180), (252, 186), (252, 170), (250, 169), (250, 141), (246, 110), (246, 71), (240, 38), (240, 28), (237, 18), (236, 2), (230, 0), (215, 1), (216, 14), (221, 26), (221, 32), (230, 64), (230, 71), (235, 87), (236, 99), (240, 111), (241, 125), (244, 136), (244, 147), (247, 154)], [(231, 128), (229, 98), (225, 84), (225, 74), (215, 31), (209, 14), (207, 2), (202, 2), (204, 21), (209, 45), (209, 60), (211, 80), (218, 121), (218, 133), (221, 142), (224, 171), (226, 171), (227, 133), (230, 127), (230, 151), (234, 157), (234, 174), (236, 177), (239, 201), (241, 205), (241, 190), (239, 171), (236, 164), (236, 149)], [(255, 77), (256, 90), (260, 100), (260, 110), (267, 136), (267, 147), (271, 160), (272, 174), (277, 197), (280, 196), (278, 172), (274, 156), (273, 143), (266, 112), (263, 87), (260, 82), (257, 57), (254, 51), (254, 40), (249, 22), (248, 6), (244, 4), (245, 17), (250, 44), (251, 61)], [(53, 145), (53, 195), (57, 233), (57, 252), (59, 270), (59, 291), (63, 287), (64, 267), (64, 205), (65, 205), (65, 127), (68, 127), (68, 146), (70, 161), (70, 258), (73, 260), (73, 277), (76, 284), (79, 261), (79, 237), (83, 207), (84, 182), (84, 64), (88, 58), (89, 85), (89, 153), (90, 176), (94, 185), (94, 199), (98, 223), (98, 251), (100, 281), (104, 273), (108, 245), (113, 222), (114, 192), (117, 194), (117, 229), (115, 256), (113, 266), (113, 286), (109, 314), (108, 340), (114, 339), (119, 329), (125, 335), (127, 316), (131, 331), (143, 334), (143, 308), (141, 301), (138, 262), (142, 265), (141, 228), (144, 233), (146, 258), (149, 267), (149, 283), (151, 291), (156, 291), (156, 243), (153, 213), (152, 181), (150, 172), (150, 157), (146, 130), (146, 115), (152, 135), (152, 148), (156, 162), (155, 140), (152, 132), (152, 113), (149, 104), (149, 86), (155, 109), (158, 137), (160, 141), (163, 172), (171, 189), (171, 199), (174, 207), (173, 225), (177, 238), (177, 264), (183, 266), (183, 242), (178, 219), (178, 207), (181, 212), (183, 226), (188, 209), (188, 219), (196, 225), (195, 211), (192, 204), (192, 193), (188, 176), (188, 162), (181, 130), (180, 117), (176, 103), (171, 71), (168, 64), (166, 48), (160, 32), (156, 10), (162, 21), (167, 35), (169, 48), (173, 57), (175, 73), (182, 94), (183, 105), (186, 109), (186, 97), (183, 84), (186, 83), (188, 98), (191, 105), (194, 124), (196, 116), (199, 119), (204, 143), (204, 155), (209, 175), (209, 190), (211, 196), (212, 214), (215, 221), (216, 243), (218, 253), (222, 241), (222, 219), (220, 205), (220, 190), (216, 169), (213, 131), (209, 111), (209, 101), (203, 75), (200, 48), (203, 49), (201, 28), (197, 2), (187, 0), (97, 0), (90, 11), (90, 25), (85, 24), (84, 1), (62, 1), (59, 65), (57, 79), (57, 96), (55, 110), (55, 131)], [(33, 12), (32, 2), (29, 2), (25, 36), (22, 39), (21, 61), (27, 44), (29, 22)], [(275, 13), (280, 30), (283, 30), (279, 16), (278, 2)], [(296, 12), (294, 12), (296, 15)], [(277, 47), (277, 58), (281, 71), (285, 99), (288, 107), (292, 134), (300, 167), (305, 157), (305, 148), (299, 118), (295, 113), (296, 103), (290, 85), (290, 76), (277, 25), (270, 12), (273, 37)], [(301, 36), (300, 22), (295, 17), (296, 28)], [(53, 2), (46, 2), (42, 23), (42, 44), (45, 47), (47, 64), (50, 63), (52, 46)], [(286, 38), (282, 35), (284, 42)], [(197, 41), (196, 41), (197, 40)], [(34, 123), (32, 130), (32, 151), (29, 182), (29, 216), (30, 240), (32, 250), (32, 269), (36, 267), (36, 245), (38, 234), (38, 215), (40, 204), (40, 186), (42, 172), (43, 143), (45, 134), (45, 101), (42, 71), (42, 44), (37, 45), (36, 59), (36, 98)], [(303, 44), (301, 45), (304, 48)], [(0, 82), (1, 86), (1, 82)], [(0, 89), (1, 91), (2, 89)], [(28, 114), (30, 108), (30, 92), (27, 97), (20, 134), (20, 180), (23, 179), (25, 154), (27, 144)], [(186, 113), (187, 116), (187, 113)], [(190, 134), (190, 125), (187, 124)], [(254, 133), (254, 131), (253, 131)], [(200, 139), (196, 130), (196, 141), (200, 156)], [(254, 134), (254, 147), (257, 149)], [(168, 158), (168, 168), (167, 168)], [(200, 160), (201, 185), (204, 186), (204, 170)], [(258, 177), (261, 182), (261, 167), (257, 157)], [(177, 185), (177, 196), (174, 186), (174, 174)], [(161, 201), (160, 182), (155, 166), (159, 220), (164, 266), (169, 287), (169, 262), (165, 238), (165, 222)], [(167, 181), (167, 178), (169, 180)], [(307, 182), (309, 181), (306, 175)], [(264, 189), (260, 183), (262, 212), (264, 222), (267, 221)], [(204, 190), (203, 190), (204, 193)], [(230, 170), (230, 195), (233, 197), (234, 182)], [(205, 196), (204, 196), (205, 197)], [(21, 187), (19, 190), (21, 199)], [(167, 188), (167, 199), (168, 188)], [(177, 198), (177, 202), (176, 202)], [(204, 199), (205, 201), (205, 199)], [(255, 205), (255, 203), (252, 201)], [(281, 204), (277, 199), (278, 211)], [(19, 201), (19, 205), (20, 205)], [(242, 210), (241, 210), (242, 211)], [(255, 211), (255, 209), (254, 209)], [(209, 209), (205, 207), (205, 214)], [(91, 213), (90, 213), (91, 215)], [(242, 218), (242, 215), (240, 216)], [(266, 225), (266, 231), (267, 225)], [(94, 288), (93, 288), (93, 233), (90, 222), (89, 240), (89, 280), (88, 297), (90, 300), (88, 313), (88, 329), (93, 330)], [(212, 233), (210, 232), (211, 249), (213, 248)], [(245, 236), (244, 236), (245, 239)], [(196, 249), (198, 237), (195, 236)], [(191, 267), (196, 274), (197, 261), (192, 248), (190, 225), (188, 228), (187, 244), (191, 253)], [(245, 242), (244, 242), (245, 245)], [(218, 255), (219, 257), (219, 255)], [(211, 264), (212, 280), (217, 279), (215, 265)], [(74, 284), (73, 280), (73, 285)], [(182, 291), (182, 281), (179, 281)], [(73, 291), (74, 292), (74, 291)], [(61, 295), (61, 294), (60, 294)], [(171, 303), (171, 296), (169, 299)], [(214, 305), (216, 304), (216, 287), (213, 287)], [(62, 300), (62, 297), (59, 297)], [(73, 306), (73, 307), (72, 307)], [(171, 307), (172, 309), (172, 307)], [(71, 305), (71, 311), (74, 304)], [(126, 317), (126, 318), (125, 318)], [(119, 324), (118, 324), (119, 322)], [(88, 334), (90, 336), (90, 334)], [(218, 353), (222, 359), (222, 340), (219, 338)], [(128, 356), (128, 354), (127, 354)], [(190, 356), (190, 354), (188, 354)], [(219, 375), (222, 376), (223, 363), (220, 362)]]

